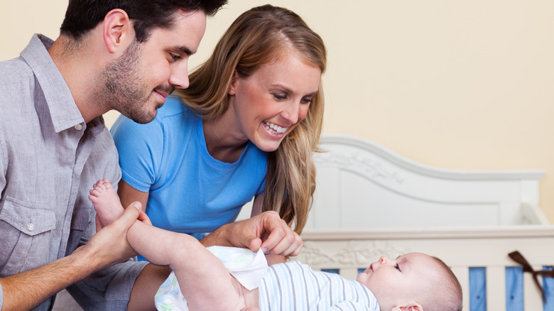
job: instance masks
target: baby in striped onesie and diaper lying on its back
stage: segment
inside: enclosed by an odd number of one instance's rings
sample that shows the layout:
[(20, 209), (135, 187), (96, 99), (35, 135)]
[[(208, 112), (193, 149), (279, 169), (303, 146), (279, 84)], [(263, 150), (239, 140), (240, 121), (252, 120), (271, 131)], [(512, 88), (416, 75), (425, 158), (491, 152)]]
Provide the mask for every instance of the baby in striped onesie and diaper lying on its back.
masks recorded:
[[(108, 180), (94, 184), (89, 199), (102, 224), (111, 223), (124, 211)], [(164, 285), (173, 284), (180, 292), (170, 291), (166, 295), (175, 296), (174, 303), (179, 301), (177, 296), (183, 295), (185, 299), (174, 310), (462, 309), (462, 289), (455, 275), (440, 259), (423, 253), (407, 253), (396, 259), (382, 256), (360, 273), (357, 280), (313, 271), (298, 261), (268, 268), (257, 266), (254, 270), (261, 273), (257, 274), (259, 276), (254, 273), (254, 277), (259, 287), (254, 285), (253, 288), (244, 285), (251, 283), (251, 275), (246, 281), (237, 277), (239, 273), (228, 268), (229, 261), (221, 255), (222, 252), (236, 254), (237, 249), (210, 251), (192, 236), (138, 221), (127, 231), (127, 241), (151, 263), (170, 266), (173, 270)], [(261, 252), (238, 251), (250, 253), (257, 263), (264, 257)], [(240, 271), (242, 268), (239, 272), (244, 272)]]

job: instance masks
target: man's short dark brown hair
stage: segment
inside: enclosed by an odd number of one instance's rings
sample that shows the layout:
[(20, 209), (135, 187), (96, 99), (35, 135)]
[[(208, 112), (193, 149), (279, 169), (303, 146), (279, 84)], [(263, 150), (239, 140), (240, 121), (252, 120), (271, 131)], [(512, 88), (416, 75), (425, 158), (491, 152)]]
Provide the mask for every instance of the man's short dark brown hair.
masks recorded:
[(70, 0), (60, 34), (79, 40), (104, 21), (109, 11), (122, 9), (133, 22), (136, 40), (144, 42), (154, 28), (173, 26), (178, 10), (213, 16), (224, 4), (227, 0)]

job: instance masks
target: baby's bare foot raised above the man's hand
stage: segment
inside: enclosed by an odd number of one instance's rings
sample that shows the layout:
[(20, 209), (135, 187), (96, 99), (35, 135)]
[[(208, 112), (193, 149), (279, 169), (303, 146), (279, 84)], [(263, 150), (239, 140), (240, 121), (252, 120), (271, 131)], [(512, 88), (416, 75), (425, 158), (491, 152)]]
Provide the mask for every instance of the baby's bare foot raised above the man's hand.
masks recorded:
[(94, 204), (100, 223), (107, 226), (123, 214), (123, 206), (114, 187), (106, 178), (98, 180), (93, 187), (94, 189), (90, 190), (89, 200)]

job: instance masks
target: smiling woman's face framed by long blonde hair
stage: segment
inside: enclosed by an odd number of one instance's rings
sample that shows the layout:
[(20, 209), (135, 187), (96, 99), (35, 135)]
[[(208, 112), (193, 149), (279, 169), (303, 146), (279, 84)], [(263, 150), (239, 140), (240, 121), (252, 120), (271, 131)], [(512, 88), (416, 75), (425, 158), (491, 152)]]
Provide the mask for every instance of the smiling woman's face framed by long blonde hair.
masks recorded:
[(294, 52), (262, 65), (245, 79), (237, 73), (229, 88), (234, 133), (262, 151), (275, 151), (308, 114), (320, 84), (321, 70)]

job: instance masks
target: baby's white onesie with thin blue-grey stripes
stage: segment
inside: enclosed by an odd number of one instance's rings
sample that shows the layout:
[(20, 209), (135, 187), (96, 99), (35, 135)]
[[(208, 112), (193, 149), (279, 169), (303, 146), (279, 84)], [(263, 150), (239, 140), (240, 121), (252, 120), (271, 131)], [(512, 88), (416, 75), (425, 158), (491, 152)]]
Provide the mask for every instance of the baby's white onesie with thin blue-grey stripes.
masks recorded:
[(298, 261), (268, 267), (259, 283), (259, 307), (264, 310), (379, 311), (371, 291), (356, 280), (313, 271)]

